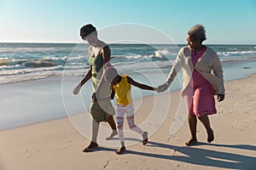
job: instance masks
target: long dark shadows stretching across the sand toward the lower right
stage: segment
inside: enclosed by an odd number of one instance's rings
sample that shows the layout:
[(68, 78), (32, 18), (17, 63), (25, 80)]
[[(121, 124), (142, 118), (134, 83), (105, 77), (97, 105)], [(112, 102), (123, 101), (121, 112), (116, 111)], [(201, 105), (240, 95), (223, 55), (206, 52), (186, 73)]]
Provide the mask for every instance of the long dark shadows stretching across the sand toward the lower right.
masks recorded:
[[(240, 150), (252, 150), (256, 152), (256, 146), (248, 144), (207, 144), (198, 143), (196, 145), (211, 145), (216, 147), (227, 147)], [(231, 169), (256, 169), (256, 157), (242, 156), (235, 153), (226, 153), (217, 150), (206, 150), (196, 148), (195, 146), (174, 146), (171, 144), (160, 144), (156, 142), (148, 142), (149, 147), (160, 147), (174, 150), (173, 155), (160, 155), (154, 153), (138, 152), (134, 150), (127, 150), (126, 154), (134, 154), (138, 156), (149, 156), (159, 159), (167, 159), (173, 161), (183, 161), (195, 165), (207, 167), (220, 167)], [(185, 156), (175, 156), (175, 151), (183, 153)]]

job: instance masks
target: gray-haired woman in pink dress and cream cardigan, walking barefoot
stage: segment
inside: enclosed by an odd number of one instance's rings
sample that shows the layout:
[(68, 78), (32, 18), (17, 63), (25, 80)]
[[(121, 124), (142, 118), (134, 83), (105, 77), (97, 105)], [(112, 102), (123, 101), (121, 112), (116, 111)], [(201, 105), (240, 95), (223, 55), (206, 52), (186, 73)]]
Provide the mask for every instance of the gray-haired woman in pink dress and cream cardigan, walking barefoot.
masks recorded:
[(218, 54), (212, 48), (202, 45), (202, 42), (207, 39), (205, 32), (201, 25), (195, 25), (188, 31), (187, 42), (189, 46), (179, 50), (166, 83), (160, 85), (158, 90), (163, 92), (169, 88), (177, 76), (177, 72), (181, 68), (183, 69), (182, 96), (189, 114), (191, 133), (191, 139), (185, 143), (186, 145), (197, 143), (196, 117), (207, 129), (207, 141), (212, 142), (214, 135), (208, 115), (217, 113), (213, 96), (218, 95), (218, 101), (224, 100), (222, 65)]

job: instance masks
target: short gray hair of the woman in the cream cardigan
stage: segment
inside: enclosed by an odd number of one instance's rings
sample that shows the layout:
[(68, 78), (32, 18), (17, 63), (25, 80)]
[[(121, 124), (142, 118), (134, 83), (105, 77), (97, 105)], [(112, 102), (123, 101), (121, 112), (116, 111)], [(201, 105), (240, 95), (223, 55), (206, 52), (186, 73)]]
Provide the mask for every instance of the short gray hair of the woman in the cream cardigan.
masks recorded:
[(201, 26), (200, 24), (190, 28), (190, 30), (188, 31), (188, 35), (194, 37), (195, 40), (200, 40), (201, 42), (207, 39), (205, 27)]

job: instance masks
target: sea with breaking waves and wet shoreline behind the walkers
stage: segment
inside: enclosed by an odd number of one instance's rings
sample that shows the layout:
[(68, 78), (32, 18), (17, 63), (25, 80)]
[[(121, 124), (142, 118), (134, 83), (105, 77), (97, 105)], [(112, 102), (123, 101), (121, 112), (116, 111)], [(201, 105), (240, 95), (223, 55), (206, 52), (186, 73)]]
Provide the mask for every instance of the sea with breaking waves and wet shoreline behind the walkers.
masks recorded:
[[(111, 64), (120, 74), (157, 87), (165, 82), (185, 44), (109, 44)], [(209, 44), (224, 68), (224, 81), (256, 72), (256, 45)], [(89, 111), (91, 82), (79, 95), (73, 88), (88, 71), (89, 45), (80, 43), (0, 43), (0, 130)], [(166, 91), (181, 88), (181, 76)], [(154, 95), (134, 88), (135, 99)]]

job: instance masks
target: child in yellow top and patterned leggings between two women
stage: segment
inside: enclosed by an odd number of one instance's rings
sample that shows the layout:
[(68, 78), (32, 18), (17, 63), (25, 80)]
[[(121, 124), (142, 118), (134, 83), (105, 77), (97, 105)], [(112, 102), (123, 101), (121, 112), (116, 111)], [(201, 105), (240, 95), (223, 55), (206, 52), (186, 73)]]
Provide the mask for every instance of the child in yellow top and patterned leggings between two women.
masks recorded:
[[(125, 138), (123, 133), (123, 124), (124, 124), (124, 116), (126, 113), (126, 118), (128, 125), (131, 130), (140, 133), (143, 135), (143, 145), (148, 143), (148, 133), (143, 132), (140, 127), (137, 127), (134, 123), (134, 107), (131, 99), (131, 85), (136, 86), (137, 88), (142, 88), (145, 90), (153, 90), (156, 91), (156, 88), (149, 87), (147, 85), (138, 83), (125, 75), (123, 77), (119, 76), (118, 71), (114, 68), (108, 68), (105, 72), (104, 79), (106, 82), (112, 85), (112, 94), (104, 99), (113, 99), (114, 94), (117, 99), (117, 111), (116, 111), (116, 120), (119, 134), (119, 141), (121, 143), (121, 148), (116, 150), (116, 154), (122, 154), (125, 149)], [(101, 87), (101, 86), (100, 86)], [(98, 89), (96, 90), (96, 93)], [(93, 99), (100, 99), (97, 94), (93, 94)]]

